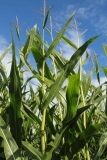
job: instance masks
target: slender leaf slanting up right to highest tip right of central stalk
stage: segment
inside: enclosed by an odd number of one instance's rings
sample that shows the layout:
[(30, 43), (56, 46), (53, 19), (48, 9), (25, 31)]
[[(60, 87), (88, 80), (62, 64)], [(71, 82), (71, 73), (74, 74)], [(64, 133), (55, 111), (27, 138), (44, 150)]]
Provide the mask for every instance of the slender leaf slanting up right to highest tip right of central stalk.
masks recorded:
[(74, 17), (76, 11), (73, 12), (73, 14), (70, 16), (70, 18), (68, 19), (68, 21), (66, 22), (66, 24), (64, 25), (64, 27), (61, 29), (61, 31), (59, 32), (58, 36), (53, 40), (51, 46), (49, 47), (49, 49), (46, 52), (46, 56), (45, 56), (45, 60), (50, 56), (51, 52), (53, 51), (53, 49), (57, 46), (57, 44), (59, 43), (59, 41), (61, 40), (65, 30), (67, 29), (69, 23), (71, 22), (72, 18)]

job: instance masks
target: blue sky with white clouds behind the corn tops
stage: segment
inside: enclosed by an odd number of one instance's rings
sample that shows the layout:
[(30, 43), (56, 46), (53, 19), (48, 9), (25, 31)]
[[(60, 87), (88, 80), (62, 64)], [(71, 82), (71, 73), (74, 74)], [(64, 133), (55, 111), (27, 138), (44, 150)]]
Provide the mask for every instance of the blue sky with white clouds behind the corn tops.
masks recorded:
[[(89, 51), (93, 55), (94, 52), (98, 55), (99, 64), (101, 66), (107, 66), (107, 57), (104, 54), (102, 44), (107, 43), (107, 0), (47, 0), (47, 9), (53, 6), (51, 11), (53, 22), (53, 36), (55, 38), (55, 30), (60, 31), (63, 24), (67, 21), (69, 16), (77, 9), (75, 20), (79, 26), (79, 33), (88, 29), (85, 35), (81, 38), (81, 44), (83, 44), (89, 38), (102, 34), (92, 45), (89, 46)], [(43, 9), (43, 0), (0, 0), (0, 54), (11, 43), (10, 35), (10, 23), (16, 19), (19, 20), (19, 25), (22, 25), (20, 34), (21, 41), (18, 42), (16, 34), (15, 43), (18, 47), (21, 47), (27, 36), (26, 29), (32, 28), (35, 24), (38, 25), (40, 31), (42, 31), (41, 14), (34, 12), (34, 10), (41, 11)], [(74, 25), (74, 20), (71, 23)], [(49, 23), (47, 27), (50, 29)], [(68, 27), (65, 35), (77, 44), (76, 32), (71, 27)], [(45, 40), (50, 44), (51, 39), (48, 33), (45, 33)], [(57, 49), (60, 49), (64, 56), (69, 59), (74, 53), (69, 46), (65, 43), (60, 43)], [(11, 53), (6, 56), (4, 63), (6, 64), (11, 60)], [(85, 65), (86, 70), (90, 70), (92, 67), (91, 60)], [(105, 80), (103, 72), (101, 71), (102, 79)], [(103, 81), (102, 80), (102, 81)]]

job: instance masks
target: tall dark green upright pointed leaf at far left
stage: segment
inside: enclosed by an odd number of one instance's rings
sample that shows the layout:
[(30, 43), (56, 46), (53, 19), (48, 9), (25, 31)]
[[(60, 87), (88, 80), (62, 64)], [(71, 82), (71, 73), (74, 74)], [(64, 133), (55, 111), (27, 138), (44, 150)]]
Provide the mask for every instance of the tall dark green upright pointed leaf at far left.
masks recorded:
[(9, 121), (10, 121), (10, 131), (13, 138), (15, 139), (18, 146), (21, 145), (21, 82), (19, 77), (19, 72), (16, 65), (15, 57), (15, 45), (14, 39), (12, 37), (12, 65), (10, 71), (10, 82), (9, 82)]

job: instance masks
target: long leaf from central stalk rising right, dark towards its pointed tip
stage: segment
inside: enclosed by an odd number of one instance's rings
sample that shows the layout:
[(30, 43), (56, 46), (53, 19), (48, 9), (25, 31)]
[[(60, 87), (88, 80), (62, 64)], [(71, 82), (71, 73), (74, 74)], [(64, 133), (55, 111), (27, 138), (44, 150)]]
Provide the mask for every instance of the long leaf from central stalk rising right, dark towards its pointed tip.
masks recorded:
[(49, 103), (53, 100), (55, 95), (58, 93), (66, 77), (68, 77), (68, 75), (73, 71), (76, 63), (79, 61), (80, 57), (83, 55), (88, 45), (98, 37), (99, 36), (95, 36), (89, 39), (80, 48), (78, 48), (78, 50), (71, 57), (70, 61), (65, 65), (64, 70), (59, 72), (59, 76), (57, 77), (55, 83), (52, 85), (48, 96), (45, 96), (45, 99), (43, 100), (43, 104), (42, 104), (43, 108), (48, 107)]

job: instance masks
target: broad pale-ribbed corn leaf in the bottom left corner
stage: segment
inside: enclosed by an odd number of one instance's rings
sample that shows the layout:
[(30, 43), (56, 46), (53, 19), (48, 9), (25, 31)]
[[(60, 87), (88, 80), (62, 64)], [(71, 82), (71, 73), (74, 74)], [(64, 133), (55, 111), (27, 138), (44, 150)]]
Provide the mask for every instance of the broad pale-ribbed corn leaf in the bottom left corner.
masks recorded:
[(19, 148), (9, 128), (0, 116), (0, 136), (3, 138), (4, 154), (7, 160), (21, 160)]

